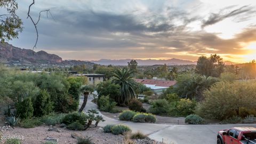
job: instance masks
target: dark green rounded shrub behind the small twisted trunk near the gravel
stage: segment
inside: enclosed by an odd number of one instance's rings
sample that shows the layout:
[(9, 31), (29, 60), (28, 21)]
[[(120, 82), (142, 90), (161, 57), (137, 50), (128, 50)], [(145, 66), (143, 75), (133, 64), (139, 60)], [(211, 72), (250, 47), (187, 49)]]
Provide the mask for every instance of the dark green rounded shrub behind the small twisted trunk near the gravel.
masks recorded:
[(61, 120), (61, 123), (69, 125), (74, 122), (79, 122), (80, 124), (85, 125), (87, 119), (88, 117), (84, 113), (74, 112), (64, 116)]

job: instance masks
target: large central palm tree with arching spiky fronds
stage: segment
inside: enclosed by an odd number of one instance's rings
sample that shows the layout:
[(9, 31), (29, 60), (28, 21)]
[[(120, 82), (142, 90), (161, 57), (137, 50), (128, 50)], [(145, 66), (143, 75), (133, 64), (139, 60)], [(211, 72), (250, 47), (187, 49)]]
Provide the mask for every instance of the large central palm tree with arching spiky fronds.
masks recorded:
[(119, 105), (127, 104), (138, 96), (139, 85), (133, 79), (133, 73), (133, 70), (127, 68), (113, 70), (113, 82), (120, 86), (120, 97), (118, 98)]

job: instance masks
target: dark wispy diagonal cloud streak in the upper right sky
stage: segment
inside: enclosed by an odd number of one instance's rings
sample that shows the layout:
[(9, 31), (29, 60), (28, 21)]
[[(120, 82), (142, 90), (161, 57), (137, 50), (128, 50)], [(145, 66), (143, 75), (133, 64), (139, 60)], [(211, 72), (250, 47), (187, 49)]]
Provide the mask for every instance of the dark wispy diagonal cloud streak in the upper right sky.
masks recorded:
[(202, 28), (209, 26), (209, 25), (213, 25), (213, 24), (220, 22), (226, 18), (234, 17), (235, 15), (239, 15), (239, 14), (246, 15), (246, 14), (251, 14), (252, 12), (255, 12), (253, 10), (254, 8), (249, 5), (239, 7), (238, 9), (232, 10), (230, 12), (225, 12), (227, 10), (230, 10), (233, 7), (234, 6), (228, 6), (225, 9), (220, 10), (219, 13), (211, 13), (210, 17), (207, 18), (207, 20), (202, 21)]

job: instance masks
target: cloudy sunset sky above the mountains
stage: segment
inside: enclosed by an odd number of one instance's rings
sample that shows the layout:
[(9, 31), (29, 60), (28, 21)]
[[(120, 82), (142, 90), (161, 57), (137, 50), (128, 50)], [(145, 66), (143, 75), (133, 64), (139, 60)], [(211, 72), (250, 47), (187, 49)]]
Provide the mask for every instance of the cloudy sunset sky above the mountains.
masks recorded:
[[(32, 49), (32, 0), (18, 1), (23, 31), (10, 44)], [(219, 54), (225, 61), (256, 59), (254, 0), (36, 0), (31, 15), (35, 51), (62, 59), (171, 59), (196, 61)]]

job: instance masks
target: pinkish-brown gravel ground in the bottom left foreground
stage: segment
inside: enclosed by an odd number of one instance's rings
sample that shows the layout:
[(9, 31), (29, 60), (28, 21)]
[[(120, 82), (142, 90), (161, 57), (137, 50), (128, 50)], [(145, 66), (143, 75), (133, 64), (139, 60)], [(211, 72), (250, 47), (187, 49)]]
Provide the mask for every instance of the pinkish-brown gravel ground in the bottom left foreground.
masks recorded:
[(103, 133), (103, 130), (99, 127), (92, 127), (86, 131), (71, 131), (67, 129), (61, 129), (61, 132), (48, 131), (49, 126), (38, 126), (31, 129), (24, 129), (21, 127), (15, 127), (12, 131), (2, 132), (3, 136), (16, 136), (24, 137), (22, 143), (26, 144), (41, 144), (46, 137), (53, 137), (58, 139), (58, 143), (76, 143), (76, 139), (71, 137), (71, 133), (76, 133), (80, 137), (91, 137), (94, 143), (121, 143), (124, 136), (114, 135), (111, 133)]

